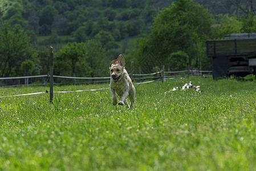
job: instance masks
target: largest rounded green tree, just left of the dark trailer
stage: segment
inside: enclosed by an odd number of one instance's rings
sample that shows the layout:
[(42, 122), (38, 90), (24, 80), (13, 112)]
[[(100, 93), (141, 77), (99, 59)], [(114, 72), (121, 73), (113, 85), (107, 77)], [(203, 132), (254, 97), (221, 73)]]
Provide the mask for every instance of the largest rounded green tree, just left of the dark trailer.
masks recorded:
[(184, 51), (197, 64), (212, 25), (212, 15), (192, 0), (176, 0), (154, 19), (153, 30), (139, 43), (137, 58), (152, 52), (162, 63), (173, 52)]

